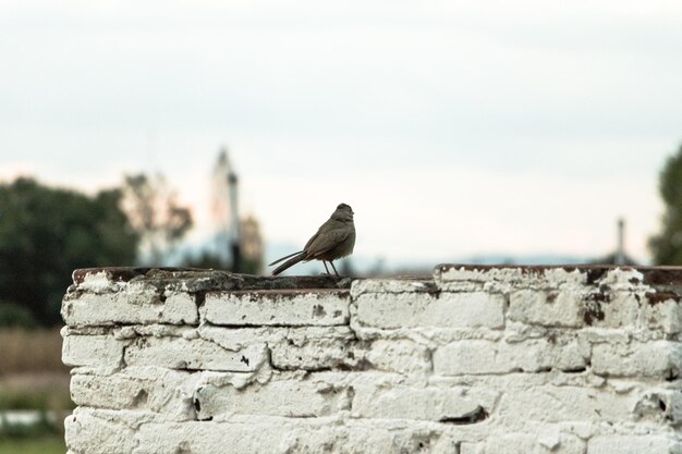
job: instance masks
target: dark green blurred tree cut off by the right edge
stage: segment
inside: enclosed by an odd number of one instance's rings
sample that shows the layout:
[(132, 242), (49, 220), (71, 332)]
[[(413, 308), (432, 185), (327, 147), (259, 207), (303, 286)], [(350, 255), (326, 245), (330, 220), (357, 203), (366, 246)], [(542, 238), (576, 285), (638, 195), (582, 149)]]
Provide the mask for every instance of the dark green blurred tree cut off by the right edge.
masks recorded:
[(649, 238), (656, 265), (682, 265), (682, 145), (668, 158), (660, 173), (658, 189), (663, 199), (661, 231)]

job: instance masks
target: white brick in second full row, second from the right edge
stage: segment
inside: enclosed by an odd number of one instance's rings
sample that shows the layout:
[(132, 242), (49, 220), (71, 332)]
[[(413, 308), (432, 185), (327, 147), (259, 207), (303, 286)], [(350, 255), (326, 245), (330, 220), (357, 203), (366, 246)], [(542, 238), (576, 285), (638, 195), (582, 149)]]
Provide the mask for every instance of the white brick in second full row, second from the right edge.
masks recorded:
[(443, 376), (538, 372), (549, 369), (584, 370), (587, 361), (575, 340), (551, 343), (528, 340), (509, 344), (490, 341), (459, 341), (438, 347), (434, 371)]

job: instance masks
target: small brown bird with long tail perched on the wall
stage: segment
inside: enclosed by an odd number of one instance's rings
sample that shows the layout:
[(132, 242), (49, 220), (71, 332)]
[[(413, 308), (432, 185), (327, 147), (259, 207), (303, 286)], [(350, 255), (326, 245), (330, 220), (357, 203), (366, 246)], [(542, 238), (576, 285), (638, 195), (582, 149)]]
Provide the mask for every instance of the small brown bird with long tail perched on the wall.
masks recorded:
[(303, 250), (279, 258), (268, 265), (271, 267), (282, 260), (287, 260), (272, 270), (272, 275), (281, 273), (300, 261), (321, 260), (327, 274), (331, 274), (329, 268), (327, 268), (327, 262), (329, 262), (338, 277), (339, 272), (337, 267), (333, 266), (333, 260), (350, 256), (355, 246), (353, 214), (354, 212), (350, 205), (339, 204), (329, 220), (321, 224), (317, 233), (308, 240)]

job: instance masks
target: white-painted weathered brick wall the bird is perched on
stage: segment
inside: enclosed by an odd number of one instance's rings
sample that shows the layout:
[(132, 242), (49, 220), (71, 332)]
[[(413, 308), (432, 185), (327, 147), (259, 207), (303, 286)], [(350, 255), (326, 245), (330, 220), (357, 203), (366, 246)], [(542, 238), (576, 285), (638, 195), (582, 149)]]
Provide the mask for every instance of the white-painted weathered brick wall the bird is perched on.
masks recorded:
[(682, 270), (74, 272), (72, 454), (682, 453)]

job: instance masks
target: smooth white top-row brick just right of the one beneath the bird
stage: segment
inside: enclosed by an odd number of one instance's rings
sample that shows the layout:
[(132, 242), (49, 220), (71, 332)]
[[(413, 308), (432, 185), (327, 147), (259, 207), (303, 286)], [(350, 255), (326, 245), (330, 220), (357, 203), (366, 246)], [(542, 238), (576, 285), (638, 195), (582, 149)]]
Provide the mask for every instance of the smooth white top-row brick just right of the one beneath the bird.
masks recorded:
[(504, 296), (485, 292), (385, 293), (357, 297), (357, 321), (376, 328), (501, 328)]

